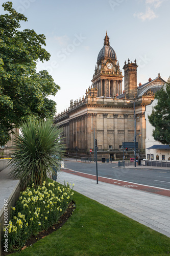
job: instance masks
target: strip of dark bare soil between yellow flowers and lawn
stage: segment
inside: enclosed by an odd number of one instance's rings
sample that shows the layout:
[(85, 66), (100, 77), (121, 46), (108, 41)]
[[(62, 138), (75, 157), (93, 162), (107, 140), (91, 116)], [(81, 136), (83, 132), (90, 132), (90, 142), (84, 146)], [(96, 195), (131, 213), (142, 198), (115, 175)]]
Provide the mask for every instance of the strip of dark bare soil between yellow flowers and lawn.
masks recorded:
[[(54, 231), (56, 231), (57, 229), (61, 228), (64, 225), (64, 223), (69, 219), (69, 217), (72, 215), (72, 212), (75, 210), (75, 208), (76, 208), (76, 204), (75, 204), (75, 202), (72, 201), (68, 205), (67, 210), (64, 212), (64, 214), (60, 217), (59, 221), (54, 226), (48, 228), (47, 230), (43, 230), (43, 231), (39, 232), (37, 234), (37, 236), (32, 236), (27, 241), (25, 246), (29, 247), (32, 244), (36, 243), (38, 240), (48, 236), (48, 234), (51, 234)], [(24, 248), (27, 248), (27, 247), (24, 247)], [(11, 253), (14, 253), (14, 252), (16, 252), (16, 250), (12, 251), (12, 252), (5, 252), (5, 251), (3, 251), (2, 252), (2, 256), (8, 255), (8, 254), (11, 254)]]

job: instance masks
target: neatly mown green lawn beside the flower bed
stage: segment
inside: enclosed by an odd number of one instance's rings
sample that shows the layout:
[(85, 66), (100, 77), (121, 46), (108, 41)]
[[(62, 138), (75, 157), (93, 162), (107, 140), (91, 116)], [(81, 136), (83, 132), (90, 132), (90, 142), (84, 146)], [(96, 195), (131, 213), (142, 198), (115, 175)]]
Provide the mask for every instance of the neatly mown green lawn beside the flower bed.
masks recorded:
[(170, 255), (170, 238), (79, 193), (62, 228), (14, 255)]

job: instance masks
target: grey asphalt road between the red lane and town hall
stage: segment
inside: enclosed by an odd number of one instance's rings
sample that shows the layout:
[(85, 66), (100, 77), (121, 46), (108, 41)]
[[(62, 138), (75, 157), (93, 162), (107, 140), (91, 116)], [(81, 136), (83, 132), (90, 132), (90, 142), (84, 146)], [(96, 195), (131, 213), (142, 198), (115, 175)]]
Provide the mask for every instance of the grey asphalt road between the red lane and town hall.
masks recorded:
[[(95, 163), (64, 161), (64, 167), (96, 175)], [(98, 176), (170, 189), (169, 169), (121, 168), (115, 163), (98, 163)]]

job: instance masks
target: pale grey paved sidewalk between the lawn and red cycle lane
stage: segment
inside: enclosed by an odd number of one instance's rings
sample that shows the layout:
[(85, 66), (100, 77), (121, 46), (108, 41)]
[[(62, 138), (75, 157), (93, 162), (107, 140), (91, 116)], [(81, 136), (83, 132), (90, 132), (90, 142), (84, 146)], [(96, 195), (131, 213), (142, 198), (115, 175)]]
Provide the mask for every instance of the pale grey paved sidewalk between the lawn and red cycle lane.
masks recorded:
[(57, 181), (75, 183), (74, 190), (112, 208), (129, 218), (170, 238), (170, 198), (140, 190), (133, 190), (65, 172)]

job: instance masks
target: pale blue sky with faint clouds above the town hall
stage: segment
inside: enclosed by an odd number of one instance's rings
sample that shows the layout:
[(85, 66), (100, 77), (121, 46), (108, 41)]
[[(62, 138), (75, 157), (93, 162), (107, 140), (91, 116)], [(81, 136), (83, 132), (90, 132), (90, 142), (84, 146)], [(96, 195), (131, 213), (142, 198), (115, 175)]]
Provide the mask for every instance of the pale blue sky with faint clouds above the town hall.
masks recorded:
[[(12, 3), (17, 12), (28, 18), (28, 22), (21, 23), (21, 29), (34, 29), (46, 37), (45, 49), (51, 58), (38, 62), (37, 72), (47, 70), (61, 88), (56, 96), (50, 97), (57, 103), (57, 114), (69, 108), (71, 99), (82, 99), (91, 86), (106, 31), (123, 75), (125, 60), (130, 58), (134, 62), (136, 58), (137, 84), (148, 82), (150, 77), (155, 79), (159, 72), (165, 81), (170, 76), (169, 0), (13, 0)], [(0, 11), (4, 13), (2, 6)]]

